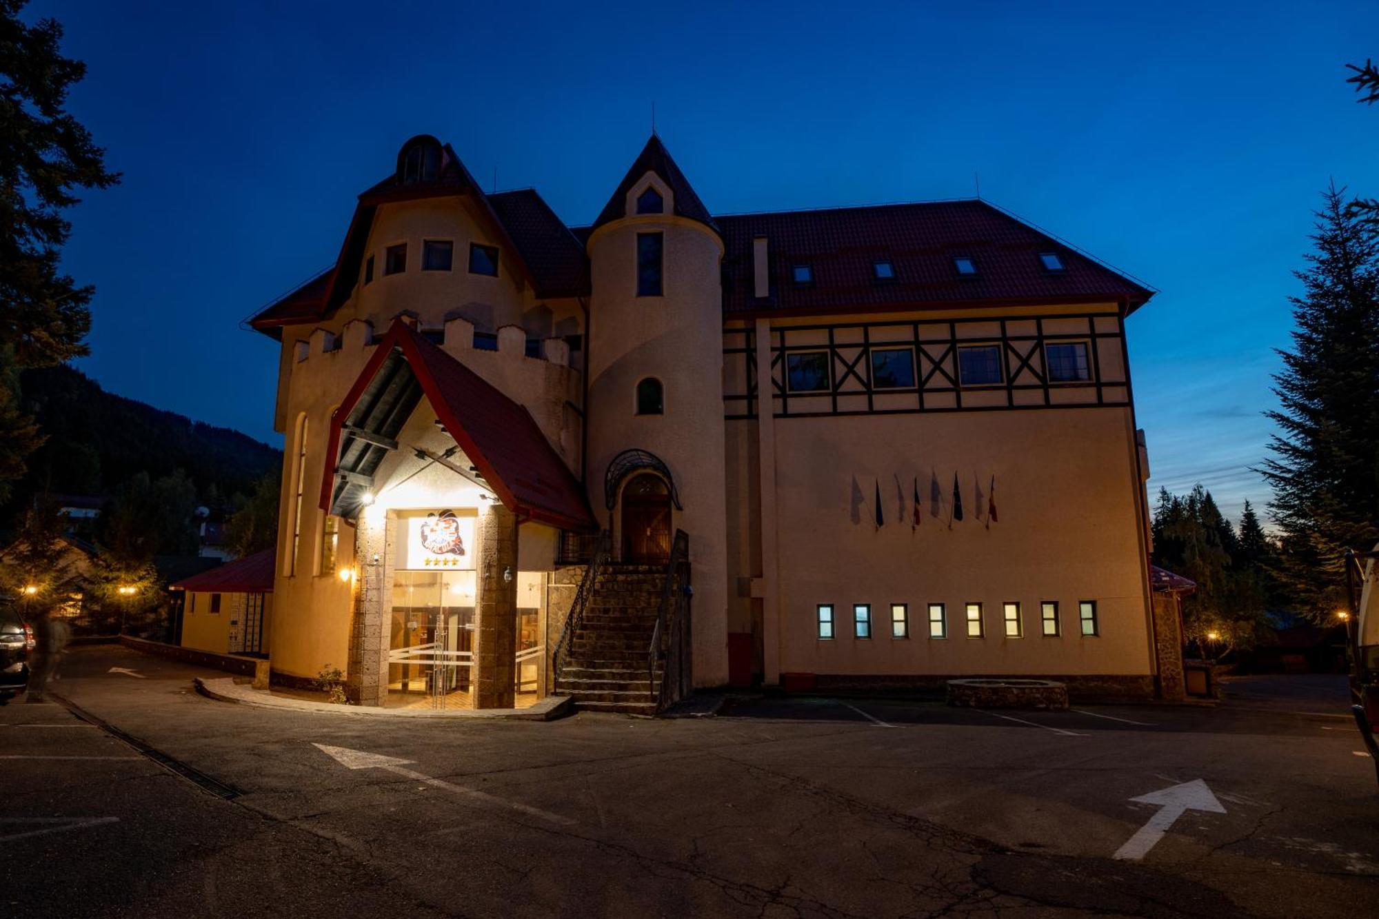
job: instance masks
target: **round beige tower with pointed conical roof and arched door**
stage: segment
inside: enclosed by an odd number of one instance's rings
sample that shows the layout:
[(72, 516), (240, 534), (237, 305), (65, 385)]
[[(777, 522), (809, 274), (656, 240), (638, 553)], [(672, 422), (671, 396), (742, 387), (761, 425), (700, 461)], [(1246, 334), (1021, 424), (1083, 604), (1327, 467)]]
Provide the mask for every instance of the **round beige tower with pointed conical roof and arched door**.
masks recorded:
[(694, 682), (728, 679), (723, 239), (655, 135), (587, 240), (587, 464), (614, 557), (690, 537)]

